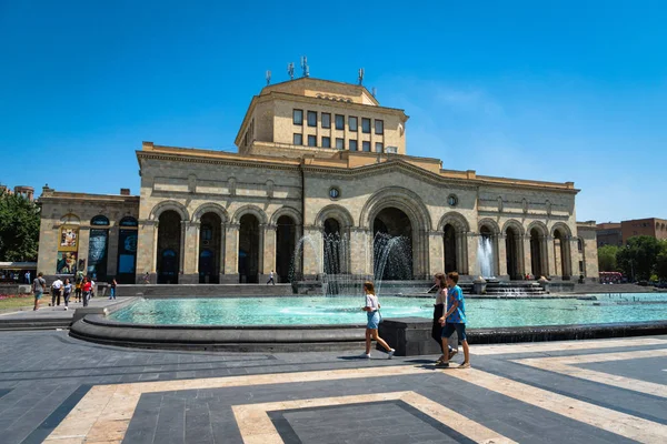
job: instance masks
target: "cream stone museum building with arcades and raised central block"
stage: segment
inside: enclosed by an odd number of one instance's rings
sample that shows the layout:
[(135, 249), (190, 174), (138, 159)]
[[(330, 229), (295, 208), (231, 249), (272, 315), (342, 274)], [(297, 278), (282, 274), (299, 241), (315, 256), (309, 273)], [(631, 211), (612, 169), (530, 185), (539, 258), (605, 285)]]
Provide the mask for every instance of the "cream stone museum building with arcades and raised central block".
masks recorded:
[[(308, 77), (267, 85), (246, 112), (238, 153), (143, 142), (139, 195), (44, 186), (38, 268), (125, 283), (147, 273), (170, 284), (257, 283), (271, 271), (278, 282), (365, 279), (385, 235), (407, 249), (384, 279), (477, 276), (481, 243), (485, 274), (597, 279), (596, 226), (576, 222), (573, 182), (410, 157), (407, 121), (362, 85)], [(331, 253), (331, 242), (345, 248)]]

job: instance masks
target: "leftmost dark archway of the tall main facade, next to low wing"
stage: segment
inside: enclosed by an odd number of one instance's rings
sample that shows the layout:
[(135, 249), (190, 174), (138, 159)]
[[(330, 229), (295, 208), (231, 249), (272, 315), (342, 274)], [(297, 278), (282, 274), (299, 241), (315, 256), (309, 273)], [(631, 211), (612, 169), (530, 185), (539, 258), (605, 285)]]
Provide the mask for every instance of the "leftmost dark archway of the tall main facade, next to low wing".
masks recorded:
[(180, 269), (181, 218), (173, 210), (160, 214), (158, 222), (158, 283), (177, 284)]

